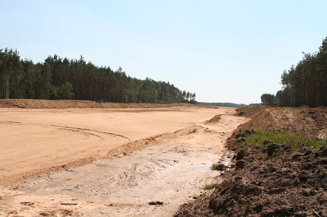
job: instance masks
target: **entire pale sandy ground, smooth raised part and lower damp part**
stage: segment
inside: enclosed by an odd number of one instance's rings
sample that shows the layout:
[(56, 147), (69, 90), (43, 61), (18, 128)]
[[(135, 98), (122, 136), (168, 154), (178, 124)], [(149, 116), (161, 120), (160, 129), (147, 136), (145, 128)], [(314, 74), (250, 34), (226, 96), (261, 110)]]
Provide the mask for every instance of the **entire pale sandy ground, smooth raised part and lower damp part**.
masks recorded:
[(219, 181), (208, 168), (247, 121), (234, 112), (0, 108), (0, 215), (173, 215)]

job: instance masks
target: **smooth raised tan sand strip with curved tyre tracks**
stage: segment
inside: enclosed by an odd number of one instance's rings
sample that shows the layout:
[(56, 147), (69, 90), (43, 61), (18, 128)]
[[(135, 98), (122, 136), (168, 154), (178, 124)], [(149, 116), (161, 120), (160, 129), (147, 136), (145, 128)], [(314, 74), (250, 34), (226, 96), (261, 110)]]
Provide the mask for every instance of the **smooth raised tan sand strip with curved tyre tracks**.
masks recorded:
[(230, 108), (1, 108), (0, 184), (107, 157), (127, 143), (126, 149), (148, 146), (161, 134), (227, 110)]

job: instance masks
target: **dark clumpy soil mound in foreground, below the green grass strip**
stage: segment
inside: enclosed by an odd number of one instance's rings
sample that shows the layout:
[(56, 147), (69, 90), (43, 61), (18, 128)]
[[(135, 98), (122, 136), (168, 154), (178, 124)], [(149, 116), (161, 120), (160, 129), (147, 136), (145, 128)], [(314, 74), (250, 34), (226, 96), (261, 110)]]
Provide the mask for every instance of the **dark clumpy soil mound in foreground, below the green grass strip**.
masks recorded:
[(184, 204), (175, 216), (327, 216), (326, 156), (326, 146), (302, 147), (270, 164), (267, 149), (251, 149), (243, 169), (225, 174), (210, 197)]

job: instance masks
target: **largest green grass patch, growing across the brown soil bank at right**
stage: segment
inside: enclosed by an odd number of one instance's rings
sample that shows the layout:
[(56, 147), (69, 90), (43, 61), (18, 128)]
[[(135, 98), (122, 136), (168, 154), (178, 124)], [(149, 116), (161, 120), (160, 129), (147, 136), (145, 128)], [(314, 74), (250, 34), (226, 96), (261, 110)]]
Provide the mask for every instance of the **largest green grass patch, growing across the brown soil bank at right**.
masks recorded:
[(236, 152), (240, 150), (246, 150), (248, 146), (251, 146), (256, 149), (263, 148), (265, 147), (265, 140), (274, 141), (277, 144), (290, 145), (294, 150), (298, 149), (298, 144), (303, 144), (308, 147), (314, 147), (316, 149), (320, 148), (321, 146), (327, 145), (327, 140), (310, 139), (301, 137), (300, 135), (290, 135), (284, 130), (256, 130), (254, 134), (246, 135), (245, 137), (247, 141), (240, 143), (236, 147)]

